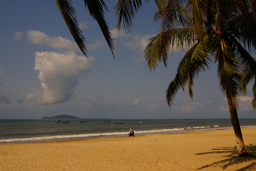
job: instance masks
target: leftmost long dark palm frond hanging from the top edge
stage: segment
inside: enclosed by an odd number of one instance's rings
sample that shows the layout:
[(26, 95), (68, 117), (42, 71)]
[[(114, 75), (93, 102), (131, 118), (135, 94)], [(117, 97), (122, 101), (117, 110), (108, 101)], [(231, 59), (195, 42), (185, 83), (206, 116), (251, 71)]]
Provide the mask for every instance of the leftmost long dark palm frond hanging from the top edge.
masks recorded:
[(65, 23), (68, 26), (69, 31), (71, 32), (73, 38), (75, 39), (75, 42), (78, 44), (78, 47), (82, 51), (84, 55), (87, 57), (87, 47), (85, 45), (85, 38), (83, 36), (82, 30), (79, 28), (78, 21), (76, 19), (76, 11), (72, 6), (71, 0), (55, 0), (61, 15), (63, 16)]

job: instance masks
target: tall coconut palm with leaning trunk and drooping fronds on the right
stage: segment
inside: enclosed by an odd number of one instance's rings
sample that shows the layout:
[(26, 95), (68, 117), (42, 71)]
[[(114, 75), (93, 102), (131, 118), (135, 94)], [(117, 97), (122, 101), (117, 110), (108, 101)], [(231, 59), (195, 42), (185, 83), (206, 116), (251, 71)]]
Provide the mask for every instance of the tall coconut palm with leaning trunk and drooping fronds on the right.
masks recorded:
[[(254, 19), (252, 13), (246, 17), (242, 15), (233, 0), (199, 1), (188, 0), (186, 5), (179, 1), (166, 3), (161, 13), (161, 32), (150, 39), (145, 58), (152, 71), (161, 61), (167, 66), (170, 48), (189, 48), (166, 90), (169, 106), (178, 90), (184, 90), (186, 85), (193, 99), (193, 79), (198, 77), (199, 72), (208, 69), (211, 63), (218, 63), (218, 78), (221, 90), (227, 97), (237, 153), (246, 155), (237, 109), (240, 93), (245, 93), (246, 84), (255, 79), (256, 61), (249, 52), (255, 52), (256, 34), (253, 30), (256, 23), (248, 22)], [(244, 89), (241, 85), (244, 85)], [(255, 108), (256, 83), (253, 93)]]

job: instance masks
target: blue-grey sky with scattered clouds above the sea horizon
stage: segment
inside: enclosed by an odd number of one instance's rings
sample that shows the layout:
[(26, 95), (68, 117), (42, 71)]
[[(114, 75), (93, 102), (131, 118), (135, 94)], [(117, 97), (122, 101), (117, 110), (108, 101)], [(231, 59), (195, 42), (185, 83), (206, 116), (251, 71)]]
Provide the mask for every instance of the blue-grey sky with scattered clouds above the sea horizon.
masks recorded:
[[(193, 100), (180, 90), (169, 108), (165, 91), (184, 52), (169, 54), (151, 73), (144, 59), (147, 40), (159, 32), (154, 1), (135, 16), (131, 32), (118, 33), (105, 1), (115, 58), (83, 1), (74, 1), (86, 38), (88, 58), (76, 45), (53, 0), (0, 1), (0, 119), (39, 119), (67, 114), (79, 118), (177, 119), (230, 118), (217, 66), (195, 78)], [(255, 54), (254, 54), (255, 55)], [(256, 118), (252, 84), (240, 97), (238, 118)]]

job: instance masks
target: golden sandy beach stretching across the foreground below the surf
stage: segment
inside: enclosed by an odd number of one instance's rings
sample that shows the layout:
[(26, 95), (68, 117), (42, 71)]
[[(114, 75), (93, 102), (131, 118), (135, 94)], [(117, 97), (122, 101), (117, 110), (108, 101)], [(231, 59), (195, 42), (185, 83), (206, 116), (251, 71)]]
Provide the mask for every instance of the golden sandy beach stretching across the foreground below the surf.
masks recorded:
[[(256, 127), (242, 128), (256, 156)], [(1, 144), (0, 171), (252, 171), (255, 158), (236, 158), (233, 129)]]

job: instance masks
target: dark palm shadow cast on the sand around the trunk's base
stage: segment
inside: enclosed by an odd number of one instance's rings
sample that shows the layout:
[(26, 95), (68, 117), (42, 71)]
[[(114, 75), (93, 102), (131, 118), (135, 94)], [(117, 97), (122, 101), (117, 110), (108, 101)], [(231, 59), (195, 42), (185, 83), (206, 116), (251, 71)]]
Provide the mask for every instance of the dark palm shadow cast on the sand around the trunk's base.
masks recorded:
[(212, 164), (207, 164), (205, 166), (202, 166), (200, 168), (197, 168), (195, 170), (201, 170), (203, 168), (207, 167), (219, 167), (221, 169), (225, 169), (228, 166), (231, 166), (233, 164), (240, 164), (243, 162), (248, 162), (250, 161), (255, 161), (251, 164), (249, 164), (246, 167), (240, 168), (239, 170), (236, 171), (248, 171), (248, 170), (256, 170), (256, 146), (255, 145), (248, 145), (246, 146), (247, 152), (251, 154), (250, 156), (234, 156), (234, 152), (236, 151), (236, 147), (219, 147), (219, 148), (214, 148), (210, 152), (205, 152), (205, 153), (196, 153), (195, 155), (204, 155), (204, 154), (209, 154), (209, 153), (227, 153), (229, 155), (223, 155), (226, 159), (220, 160), (219, 162), (214, 162)]

